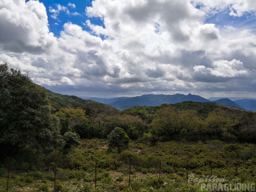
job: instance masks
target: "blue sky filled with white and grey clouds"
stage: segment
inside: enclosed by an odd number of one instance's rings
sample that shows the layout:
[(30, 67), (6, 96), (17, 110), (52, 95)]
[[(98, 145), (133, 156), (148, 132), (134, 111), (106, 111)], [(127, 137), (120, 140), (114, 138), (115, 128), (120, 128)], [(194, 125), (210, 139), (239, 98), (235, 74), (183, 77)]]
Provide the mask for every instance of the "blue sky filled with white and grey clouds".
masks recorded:
[(255, 97), (255, 0), (0, 0), (0, 18), (0, 63), (51, 91)]

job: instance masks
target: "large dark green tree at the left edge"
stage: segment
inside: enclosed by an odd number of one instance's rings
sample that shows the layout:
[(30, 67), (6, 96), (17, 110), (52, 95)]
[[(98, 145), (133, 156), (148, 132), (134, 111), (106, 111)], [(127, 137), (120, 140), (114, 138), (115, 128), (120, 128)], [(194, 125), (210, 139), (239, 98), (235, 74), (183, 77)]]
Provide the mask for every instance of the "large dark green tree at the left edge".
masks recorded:
[(58, 120), (51, 114), (47, 93), (27, 74), (0, 64), (0, 154), (22, 149), (46, 152), (58, 145)]

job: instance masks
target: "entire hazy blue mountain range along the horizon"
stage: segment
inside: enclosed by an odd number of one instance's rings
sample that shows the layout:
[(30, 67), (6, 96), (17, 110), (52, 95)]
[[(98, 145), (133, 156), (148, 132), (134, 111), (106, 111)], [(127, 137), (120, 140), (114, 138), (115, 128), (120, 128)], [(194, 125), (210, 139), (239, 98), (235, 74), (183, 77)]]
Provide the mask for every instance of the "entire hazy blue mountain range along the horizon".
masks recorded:
[[(136, 97), (116, 97), (111, 99), (97, 98), (97, 97), (80, 97), (87, 100), (93, 100), (97, 102), (102, 102), (109, 104), (115, 107), (118, 110), (124, 110), (133, 106), (158, 106), (164, 103), (175, 104), (183, 101), (195, 101), (195, 102), (213, 102), (220, 103), (224, 105), (229, 105), (232, 107), (237, 107), (240, 109), (255, 111), (256, 110), (256, 100), (254, 99), (239, 99), (239, 100), (230, 100), (229, 98), (216, 97), (217, 100), (212, 101), (214, 97), (205, 99), (199, 95), (184, 95), (184, 94), (174, 94), (174, 95), (155, 95), (148, 94)], [(234, 97), (232, 98), (234, 99)]]

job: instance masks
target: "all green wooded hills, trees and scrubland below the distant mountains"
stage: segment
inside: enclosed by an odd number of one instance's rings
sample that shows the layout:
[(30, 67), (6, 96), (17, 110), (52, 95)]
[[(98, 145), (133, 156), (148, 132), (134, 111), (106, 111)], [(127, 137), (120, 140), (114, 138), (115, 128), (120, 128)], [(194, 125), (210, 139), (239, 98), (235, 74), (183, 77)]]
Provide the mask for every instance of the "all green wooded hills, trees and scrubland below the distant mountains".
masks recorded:
[(207, 191), (187, 172), (254, 183), (255, 143), (255, 112), (192, 101), (121, 112), (0, 65), (0, 192)]

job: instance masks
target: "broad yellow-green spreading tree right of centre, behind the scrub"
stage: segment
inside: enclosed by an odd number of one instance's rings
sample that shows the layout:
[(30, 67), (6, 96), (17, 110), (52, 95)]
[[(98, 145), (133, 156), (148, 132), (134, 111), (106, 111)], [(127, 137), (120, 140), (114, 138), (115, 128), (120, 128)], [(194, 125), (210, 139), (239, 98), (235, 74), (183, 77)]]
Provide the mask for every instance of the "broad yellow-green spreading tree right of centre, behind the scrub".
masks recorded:
[(158, 110), (157, 117), (152, 121), (151, 126), (158, 135), (167, 135), (171, 139), (182, 130), (190, 131), (196, 128), (197, 112), (178, 111), (172, 106)]

